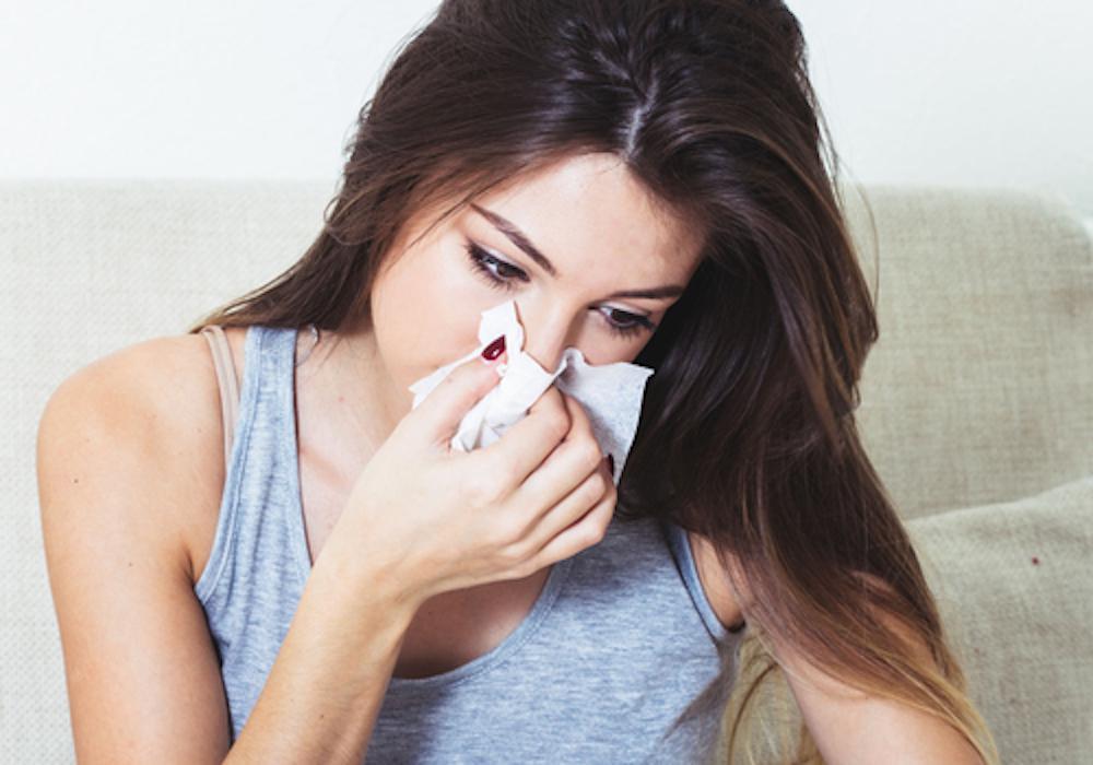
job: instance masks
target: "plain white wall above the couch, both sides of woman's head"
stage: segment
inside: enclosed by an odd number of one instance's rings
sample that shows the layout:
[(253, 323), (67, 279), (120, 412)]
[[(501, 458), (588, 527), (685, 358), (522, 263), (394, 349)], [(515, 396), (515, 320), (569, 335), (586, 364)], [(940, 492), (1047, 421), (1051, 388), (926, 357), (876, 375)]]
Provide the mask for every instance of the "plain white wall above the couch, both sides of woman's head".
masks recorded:
[[(853, 179), (1036, 187), (1093, 219), (1088, 0), (789, 0)], [(0, 177), (337, 179), (433, 0), (0, 4)]]

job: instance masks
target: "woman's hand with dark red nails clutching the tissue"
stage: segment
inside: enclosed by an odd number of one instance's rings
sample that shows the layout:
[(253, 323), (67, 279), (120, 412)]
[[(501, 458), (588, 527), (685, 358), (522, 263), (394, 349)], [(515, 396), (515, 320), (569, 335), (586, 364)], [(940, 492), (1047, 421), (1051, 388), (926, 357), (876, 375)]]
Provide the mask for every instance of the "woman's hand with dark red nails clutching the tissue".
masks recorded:
[[(551, 386), (487, 447), (450, 448), (463, 415), (497, 384), (495, 366), (457, 366), (365, 466), (316, 565), (393, 573), (400, 597), (530, 576), (599, 542), (616, 490), (573, 398)], [(367, 587), (367, 580), (360, 586)]]

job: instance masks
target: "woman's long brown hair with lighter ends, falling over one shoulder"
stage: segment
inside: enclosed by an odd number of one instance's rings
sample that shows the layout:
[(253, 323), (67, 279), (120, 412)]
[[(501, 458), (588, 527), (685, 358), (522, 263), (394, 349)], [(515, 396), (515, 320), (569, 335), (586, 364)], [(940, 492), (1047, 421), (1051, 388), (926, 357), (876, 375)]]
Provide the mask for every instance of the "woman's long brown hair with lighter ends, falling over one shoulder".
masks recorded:
[[(856, 432), (877, 317), (801, 28), (781, 2), (445, 0), (401, 46), (346, 150), (303, 257), (190, 332), (367, 325), (376, 273), (412, 214), (443, 202), (438, 223), (559, 158), (620, 156), (703, 235), (685, 293), (635, 360), (656, 374), (616, 513), (706, 537), (748, 596), (730, 758), (757, 751), (743, 723), (779, 673), (768, 638), (783, 637), (997, 762)], [(795, 725), (794, 756), (822, 762)]]

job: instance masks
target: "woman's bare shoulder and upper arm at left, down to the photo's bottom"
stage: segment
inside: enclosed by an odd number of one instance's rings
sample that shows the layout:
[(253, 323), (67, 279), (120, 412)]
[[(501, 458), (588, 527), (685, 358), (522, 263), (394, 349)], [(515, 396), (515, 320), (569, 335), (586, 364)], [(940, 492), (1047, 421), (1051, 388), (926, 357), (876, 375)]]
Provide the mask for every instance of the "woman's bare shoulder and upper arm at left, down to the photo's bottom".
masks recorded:
[(208, 533), (219, 511), (218, 399), (208, 341), (166, 337), (80, 368), (40, 416), (43, 541), (80, 762), (227, 752), (189, 557), (193, 529)]

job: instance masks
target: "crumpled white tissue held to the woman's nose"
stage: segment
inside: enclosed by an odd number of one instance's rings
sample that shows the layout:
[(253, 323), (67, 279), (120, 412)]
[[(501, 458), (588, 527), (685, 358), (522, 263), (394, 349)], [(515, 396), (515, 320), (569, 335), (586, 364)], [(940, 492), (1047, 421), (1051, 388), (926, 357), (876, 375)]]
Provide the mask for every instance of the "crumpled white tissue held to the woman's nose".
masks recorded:
[(411, 409), (416, 409), (449, 372), (481, 353), (500, 334), (505, 336), (508, 354), (507, 364), (498, 367), (501, 381), (463, 416), (451, 439), (451, 448), (470, 451), (494, 443), (525, 417), (531, 404), (556, 381), (560, 390), (584, 407), (596, 440), (614, 460), (612, 479), (618, 482), (634, 443), (645, 384), (655, 370), (626, 362), (593, 366), (585, 361), (579, 349), (569, 346), (563, 351), (557, 369), (546, 372), (524, 352), (524, 328), (513, 299), (482, 311), (478, 349), (410, 386), (414, 395)]

